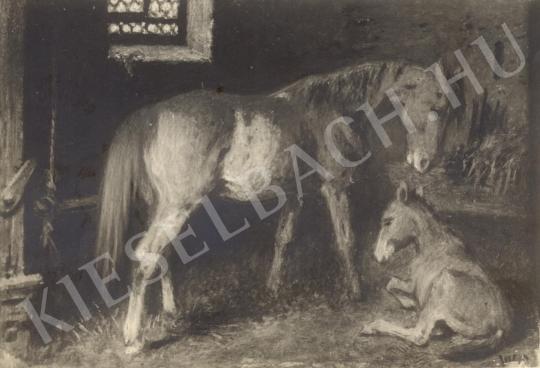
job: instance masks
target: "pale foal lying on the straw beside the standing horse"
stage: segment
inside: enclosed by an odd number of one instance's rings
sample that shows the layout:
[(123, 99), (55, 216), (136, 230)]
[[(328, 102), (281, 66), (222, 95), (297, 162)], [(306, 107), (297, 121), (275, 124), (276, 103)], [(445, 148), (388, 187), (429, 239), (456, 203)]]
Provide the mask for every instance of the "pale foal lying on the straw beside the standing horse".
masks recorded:
[(410, 280), (392, 277), (386, 289), (403, 307), (416, 307), (419, 318), (412, 328), (376, 320), (362, 333), (397, 336), (421, 346), (442, 324), (454, 333), (443, 356), (495, 350), (511, 329), (510, 307), (501, 291), (467, 256), (461, 240), (436, 219), (421, 193), (401, 183), (396, 197), (383, 215), (375, 258), (383, 262), (404, 247), (416, 247)]

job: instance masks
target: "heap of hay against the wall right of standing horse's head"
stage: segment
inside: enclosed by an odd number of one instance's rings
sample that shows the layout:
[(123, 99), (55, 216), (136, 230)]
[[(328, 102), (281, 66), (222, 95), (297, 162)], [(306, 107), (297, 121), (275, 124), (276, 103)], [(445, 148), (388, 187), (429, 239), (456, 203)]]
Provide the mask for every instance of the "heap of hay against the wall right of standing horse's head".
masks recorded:
[(446, 172), (454, 181), (464, 181), (475, 190), (492, 194), (517, 193), (527, 187), (527, 132), (498, 129), (459, 148), (446, 160)]

